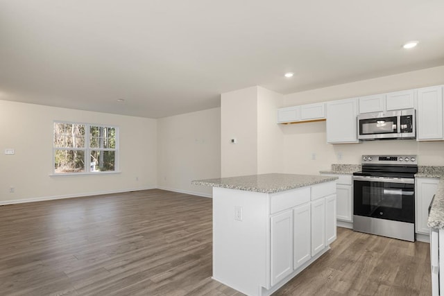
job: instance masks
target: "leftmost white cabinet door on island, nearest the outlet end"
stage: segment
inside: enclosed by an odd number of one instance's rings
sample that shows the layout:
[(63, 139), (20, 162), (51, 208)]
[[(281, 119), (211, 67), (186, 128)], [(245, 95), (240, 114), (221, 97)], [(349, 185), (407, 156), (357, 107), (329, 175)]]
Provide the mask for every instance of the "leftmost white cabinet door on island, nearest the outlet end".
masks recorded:
[(271, 286), (293, 272), (293, 211), (271, 217)]

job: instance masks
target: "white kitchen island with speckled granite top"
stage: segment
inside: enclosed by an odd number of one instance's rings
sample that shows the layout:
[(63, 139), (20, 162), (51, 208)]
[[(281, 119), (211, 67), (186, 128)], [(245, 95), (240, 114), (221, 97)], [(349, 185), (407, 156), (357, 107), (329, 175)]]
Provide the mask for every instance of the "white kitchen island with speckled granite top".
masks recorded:
[(337, 177), (264, 174), (193, 181), (213, 187), (213, 279), (271, 295), (330, 250)]

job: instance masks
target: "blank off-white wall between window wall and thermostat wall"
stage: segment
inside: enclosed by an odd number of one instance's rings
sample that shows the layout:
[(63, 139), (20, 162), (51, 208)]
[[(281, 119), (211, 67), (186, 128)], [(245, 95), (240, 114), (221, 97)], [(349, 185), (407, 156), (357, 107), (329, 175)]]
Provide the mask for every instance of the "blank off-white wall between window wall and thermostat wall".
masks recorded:
[(157, 184), (161, 189), (210, 196), (192, 180), (221, 177), (221, 108), (157, 120)]

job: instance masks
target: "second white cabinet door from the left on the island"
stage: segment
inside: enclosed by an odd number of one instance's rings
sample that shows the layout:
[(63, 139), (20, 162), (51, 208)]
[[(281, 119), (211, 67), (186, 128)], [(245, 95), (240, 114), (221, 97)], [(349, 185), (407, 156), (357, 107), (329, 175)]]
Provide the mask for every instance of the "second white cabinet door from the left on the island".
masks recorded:
[(311, 258), (310, 203), (293, 209), (293, 269)]

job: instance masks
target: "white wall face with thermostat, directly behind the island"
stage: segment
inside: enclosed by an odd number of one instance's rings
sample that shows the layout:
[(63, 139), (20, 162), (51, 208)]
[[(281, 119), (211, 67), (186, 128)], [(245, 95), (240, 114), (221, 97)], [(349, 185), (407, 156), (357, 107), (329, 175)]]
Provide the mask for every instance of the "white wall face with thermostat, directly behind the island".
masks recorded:
[(257, 87), (248, 87), (221, 95), (221, 176), (256, 173)]

